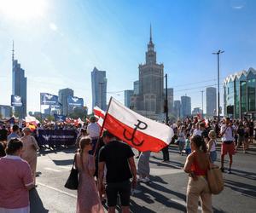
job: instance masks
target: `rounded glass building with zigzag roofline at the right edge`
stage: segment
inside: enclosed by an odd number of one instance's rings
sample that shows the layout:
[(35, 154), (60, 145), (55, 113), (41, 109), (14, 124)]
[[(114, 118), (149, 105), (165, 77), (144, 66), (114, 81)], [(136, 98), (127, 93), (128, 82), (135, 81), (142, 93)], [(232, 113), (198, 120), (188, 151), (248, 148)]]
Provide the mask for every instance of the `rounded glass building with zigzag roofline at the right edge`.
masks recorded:
[(225, 78), (224, 115), (256, 118), (256, 70), (252, 67)]

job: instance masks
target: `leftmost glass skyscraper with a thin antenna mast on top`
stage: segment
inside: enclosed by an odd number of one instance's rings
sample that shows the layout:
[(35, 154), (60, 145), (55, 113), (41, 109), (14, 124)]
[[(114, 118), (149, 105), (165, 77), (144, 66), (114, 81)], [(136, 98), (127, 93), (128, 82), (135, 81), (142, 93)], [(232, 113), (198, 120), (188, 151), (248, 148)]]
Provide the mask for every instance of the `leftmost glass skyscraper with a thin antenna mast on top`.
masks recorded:
[(15, 47), (13, 43), (13, 76), (12, 76), (12, 94), (19, 95), (22, 101), (22, 107), (15, 107), (15, 116), (19, 118), (26, 117), (26, 77), (25, 71), (20, 67), (18, 60), (15, 60)]

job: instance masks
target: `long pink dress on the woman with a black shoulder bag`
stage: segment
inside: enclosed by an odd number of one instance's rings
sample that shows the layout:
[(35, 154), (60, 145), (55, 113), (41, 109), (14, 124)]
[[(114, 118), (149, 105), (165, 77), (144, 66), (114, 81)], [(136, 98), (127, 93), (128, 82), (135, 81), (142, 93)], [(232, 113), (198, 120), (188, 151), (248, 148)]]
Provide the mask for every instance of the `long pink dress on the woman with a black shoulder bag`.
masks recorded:
[(84, 164), (84, 168), (82, 168), (80, 155), (77, 154), (76, 157), (79, 170), (77, 213), (104, 213), (96, 181), (94, 176), (89, 173), (89, 170), (95, 170), (93, 158), (92, 155), (88, 155), (87, 164)]

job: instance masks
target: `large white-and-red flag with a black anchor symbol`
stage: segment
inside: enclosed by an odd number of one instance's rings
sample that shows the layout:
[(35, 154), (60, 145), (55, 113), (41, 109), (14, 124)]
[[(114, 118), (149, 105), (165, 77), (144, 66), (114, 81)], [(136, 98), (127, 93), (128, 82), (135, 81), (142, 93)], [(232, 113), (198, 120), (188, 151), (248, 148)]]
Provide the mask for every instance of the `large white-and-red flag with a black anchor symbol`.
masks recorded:
[(160, 124), (145, 118), (111, 98), (105, 115), (103, 128), (141, 152), (159, 152), (169, 145), (173, 130), (166, 124)]

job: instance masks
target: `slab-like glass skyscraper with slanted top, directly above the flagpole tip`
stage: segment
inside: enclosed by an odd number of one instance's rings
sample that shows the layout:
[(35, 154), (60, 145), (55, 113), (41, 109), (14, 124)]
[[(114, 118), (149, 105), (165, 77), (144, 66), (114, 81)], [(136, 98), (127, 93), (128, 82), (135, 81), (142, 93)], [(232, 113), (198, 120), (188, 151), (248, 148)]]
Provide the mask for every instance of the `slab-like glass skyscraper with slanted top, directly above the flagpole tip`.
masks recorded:
[(100, 107), (107, 110), (107, 78), (106, 71), (97, 70), (94, 67), (91, 72), (92, 109)]

